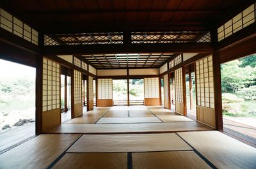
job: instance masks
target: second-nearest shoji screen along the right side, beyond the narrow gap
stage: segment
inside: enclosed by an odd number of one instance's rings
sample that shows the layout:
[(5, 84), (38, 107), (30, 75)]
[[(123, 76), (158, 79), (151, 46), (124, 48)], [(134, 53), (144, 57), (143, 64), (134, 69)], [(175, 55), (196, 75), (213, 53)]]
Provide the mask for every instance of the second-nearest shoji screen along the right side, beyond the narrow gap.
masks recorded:
[(182, 68), (175, 70), (175, 111), (184, 115)]

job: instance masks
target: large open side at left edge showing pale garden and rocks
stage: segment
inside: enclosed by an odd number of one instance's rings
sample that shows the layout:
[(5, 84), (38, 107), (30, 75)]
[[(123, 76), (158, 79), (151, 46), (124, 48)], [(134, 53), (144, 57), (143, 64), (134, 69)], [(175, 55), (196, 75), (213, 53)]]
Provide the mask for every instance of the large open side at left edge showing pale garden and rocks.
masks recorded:
[(0, 59), (0, 152), (35, 136), (36, 69)]

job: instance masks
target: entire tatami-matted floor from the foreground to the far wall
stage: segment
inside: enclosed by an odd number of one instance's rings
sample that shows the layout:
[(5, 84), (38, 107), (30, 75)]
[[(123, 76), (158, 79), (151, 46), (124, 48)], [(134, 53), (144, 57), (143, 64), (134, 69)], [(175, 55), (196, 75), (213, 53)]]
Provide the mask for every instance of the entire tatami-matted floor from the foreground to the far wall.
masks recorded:
[[(116, 110), (99, 108), (36, 136), (0, 154), (0, 168), (256, 168), (254, 147), (204, 124), (161, 107), (140, 107), (138, 115), (122, 107), (125, 117)], [(134, 115), (161, 122), (97, 123)]]

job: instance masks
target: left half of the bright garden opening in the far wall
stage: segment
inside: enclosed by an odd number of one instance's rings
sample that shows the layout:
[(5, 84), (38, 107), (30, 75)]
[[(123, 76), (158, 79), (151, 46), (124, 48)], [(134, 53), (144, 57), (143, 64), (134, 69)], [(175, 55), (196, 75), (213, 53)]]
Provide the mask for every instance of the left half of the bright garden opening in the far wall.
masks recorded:
[(127, 105), (127, 79), (113, 79), (113, 105)]

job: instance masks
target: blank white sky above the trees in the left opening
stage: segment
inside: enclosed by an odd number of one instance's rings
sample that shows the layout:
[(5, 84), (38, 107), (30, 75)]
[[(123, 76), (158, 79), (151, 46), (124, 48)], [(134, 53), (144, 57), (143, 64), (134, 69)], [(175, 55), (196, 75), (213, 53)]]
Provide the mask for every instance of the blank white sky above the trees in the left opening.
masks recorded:
[(36, 77), (36, 69), (0, 59), (0, 77)]

